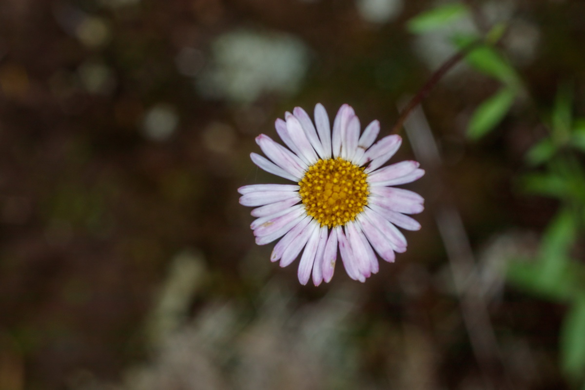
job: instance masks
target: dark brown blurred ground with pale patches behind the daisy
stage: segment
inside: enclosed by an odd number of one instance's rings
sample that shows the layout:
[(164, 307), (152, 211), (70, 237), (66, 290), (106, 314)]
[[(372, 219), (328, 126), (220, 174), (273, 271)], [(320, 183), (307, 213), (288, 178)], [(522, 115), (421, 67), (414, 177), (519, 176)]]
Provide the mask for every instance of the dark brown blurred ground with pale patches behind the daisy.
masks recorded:
[[(468, 1), (414, 33), (441, 4), (0, 1), (0, 389), (581, 388), (583, 160), (574, 201), (543, 176), (566, 137), (525, 156), (551, 112), (585, 114), (585, 2)], [(499, 22), (524, 85), (510, 111), (470, 140), (501, 82), (462, 61), (401, 134), (392, 161), (427, 171), (405, 186), (426, 199), (408, 251), (365, 284), (339, 262), (319, 288), (270, 263), (236, 192), (274, 180), (254, 137), (317, 102), (385, 135), (454, 32)], [(531, 285), (543, 242), (572, 267), (560, 298)]]

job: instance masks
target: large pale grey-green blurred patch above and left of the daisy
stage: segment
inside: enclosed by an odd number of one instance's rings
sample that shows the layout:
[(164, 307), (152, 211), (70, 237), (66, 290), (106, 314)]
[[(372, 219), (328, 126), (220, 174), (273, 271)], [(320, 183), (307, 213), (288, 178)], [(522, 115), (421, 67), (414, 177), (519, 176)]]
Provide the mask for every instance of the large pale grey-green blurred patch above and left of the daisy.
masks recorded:
[(208, 98), (253, 102), (263, 92), (295, 92), (308, 67), (308, 49), (286, 34), (229, 32), (212, 44), (213, 61), (198, 77)]

